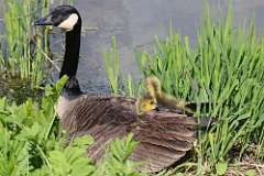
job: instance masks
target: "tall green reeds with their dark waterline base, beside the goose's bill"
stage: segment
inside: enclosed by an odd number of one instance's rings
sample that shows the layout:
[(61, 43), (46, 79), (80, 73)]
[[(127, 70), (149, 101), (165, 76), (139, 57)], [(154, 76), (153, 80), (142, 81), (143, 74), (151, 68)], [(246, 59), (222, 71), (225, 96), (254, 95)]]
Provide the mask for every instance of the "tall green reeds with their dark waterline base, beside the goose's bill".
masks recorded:
[[(74, 3), (74, 0), (67, 0)], [(65, 2), (65, 0), (64, 0)], [(4, 35), (0, 36), (0, 95), (21, 103), (40, 96), (53, 64), (50, 58), (48, 29), (36, 29), (35, 19), (46, 14), (51, 1), (4, 0)], [(63, 3), (61, 0), (59, 3)], [(13, 84), (15, 82), (15, 84)], [(11, 90), (11, 91), (10, 91)]]

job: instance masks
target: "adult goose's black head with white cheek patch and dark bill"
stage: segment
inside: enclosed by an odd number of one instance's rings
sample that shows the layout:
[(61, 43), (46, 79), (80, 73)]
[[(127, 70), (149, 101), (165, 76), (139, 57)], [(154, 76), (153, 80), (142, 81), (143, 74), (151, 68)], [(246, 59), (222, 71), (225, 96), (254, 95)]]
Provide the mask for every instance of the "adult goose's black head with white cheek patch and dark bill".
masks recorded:
[(38, 19), (35, 25), (53, 25), (65, 32), (73, 31), (76, 26), (81, 25), (81, 18), (78, 11), (72, 6), (59, 6), (55, 8), (45, 18)]

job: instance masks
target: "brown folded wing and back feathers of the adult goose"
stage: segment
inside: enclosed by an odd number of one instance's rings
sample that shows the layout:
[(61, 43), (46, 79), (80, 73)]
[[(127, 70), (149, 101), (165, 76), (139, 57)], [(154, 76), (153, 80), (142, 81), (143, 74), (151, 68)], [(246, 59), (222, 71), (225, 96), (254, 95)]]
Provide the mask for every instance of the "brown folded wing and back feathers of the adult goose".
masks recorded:
[(194, 118), (178, 111), (160, 109), (138, 117), (135, 99), (125, 97), (84, 96), (76, 103), (62, 124), (70, 138), (95, 139), (88, 153), (96, 162), (113, 139), (132, 132), (140, 143), (131, 160), (143, 162), (142, 169), (158, 172), (182, 158), (196, 141)]

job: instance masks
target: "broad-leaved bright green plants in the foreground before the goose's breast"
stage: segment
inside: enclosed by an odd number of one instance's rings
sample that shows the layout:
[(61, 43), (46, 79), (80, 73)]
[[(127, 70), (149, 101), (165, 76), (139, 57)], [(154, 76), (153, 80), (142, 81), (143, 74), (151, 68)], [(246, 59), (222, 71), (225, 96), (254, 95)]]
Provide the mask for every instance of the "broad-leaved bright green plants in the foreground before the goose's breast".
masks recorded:
[(65, 77), (54, 87), (45, 87), (41, 103), (29, 99), (16, 106), (0, 99), (0, 175), (140, 175), (128, 156), (135, 146), (132, 135), (114, 141), (101, 165), (85, 156), (90, 136), (67, 142), (58, 129), (54, 106)]

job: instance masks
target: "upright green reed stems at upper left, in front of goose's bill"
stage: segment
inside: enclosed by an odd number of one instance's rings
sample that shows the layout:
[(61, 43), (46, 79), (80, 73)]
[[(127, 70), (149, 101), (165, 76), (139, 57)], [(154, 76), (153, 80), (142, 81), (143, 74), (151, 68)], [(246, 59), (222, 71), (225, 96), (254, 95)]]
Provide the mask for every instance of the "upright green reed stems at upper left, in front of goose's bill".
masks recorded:
[(38, 3), (42, 1), (4, 1), (4, 40), (8, 43), (8, 52), (7, 58), (0, 64), (11, 76), (20, 77), (32, 86), (40, 85), (46, 74), (43, 64), (45, 57), (41, 50), (46, 50), (47, 45), (41, 41), (38, 32), (32, 25), (37, 15), (36, 9), (45, 9), (37, 8)]

